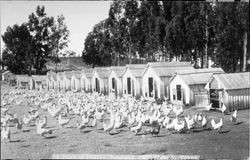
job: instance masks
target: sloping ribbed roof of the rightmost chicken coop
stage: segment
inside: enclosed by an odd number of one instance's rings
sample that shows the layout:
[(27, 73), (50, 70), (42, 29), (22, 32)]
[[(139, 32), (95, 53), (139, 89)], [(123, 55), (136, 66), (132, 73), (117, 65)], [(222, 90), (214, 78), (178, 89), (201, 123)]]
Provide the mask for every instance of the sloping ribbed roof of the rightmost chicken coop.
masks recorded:
[(225, 90), (250, 88), (250, 72), (215, 74), (213, 77)]

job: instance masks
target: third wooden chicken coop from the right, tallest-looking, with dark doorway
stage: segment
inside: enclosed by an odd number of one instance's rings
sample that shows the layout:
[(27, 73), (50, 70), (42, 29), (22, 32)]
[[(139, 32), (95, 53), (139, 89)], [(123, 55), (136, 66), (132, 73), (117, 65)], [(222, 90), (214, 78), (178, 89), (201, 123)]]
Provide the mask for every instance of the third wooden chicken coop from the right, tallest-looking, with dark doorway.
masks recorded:
[(143, 73), (142, 95), (169, 99), (169, 80), (178, 70), (194, 70), (188, 62), (151, 62)]

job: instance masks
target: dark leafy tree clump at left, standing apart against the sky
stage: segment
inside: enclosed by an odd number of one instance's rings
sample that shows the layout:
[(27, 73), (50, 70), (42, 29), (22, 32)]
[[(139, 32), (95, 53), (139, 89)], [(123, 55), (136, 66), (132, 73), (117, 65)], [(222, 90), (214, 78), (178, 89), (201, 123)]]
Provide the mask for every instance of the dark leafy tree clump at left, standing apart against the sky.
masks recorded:
[(69, 31), (63, 15), (49, 17), (44, 6), (37, 6), (22, 25), (9, 26), (2, 35), (5, 48), (3, 63), (16, 74), (36, 74), (46, 69), (48, 61), (58, 63), (60, 50), (67, 46)]

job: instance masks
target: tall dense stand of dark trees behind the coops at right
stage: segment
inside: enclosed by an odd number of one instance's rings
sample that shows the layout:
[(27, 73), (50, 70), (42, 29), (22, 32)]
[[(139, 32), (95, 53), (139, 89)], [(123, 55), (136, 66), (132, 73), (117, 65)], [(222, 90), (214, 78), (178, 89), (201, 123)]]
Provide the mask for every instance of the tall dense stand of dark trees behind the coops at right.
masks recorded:
[(191, 61), (198, 68), (212, 60), (226, 72), (244, 71), (248, 28), (245, 2), (114, 1), (85, 39), (83, 60), (93, 66)]

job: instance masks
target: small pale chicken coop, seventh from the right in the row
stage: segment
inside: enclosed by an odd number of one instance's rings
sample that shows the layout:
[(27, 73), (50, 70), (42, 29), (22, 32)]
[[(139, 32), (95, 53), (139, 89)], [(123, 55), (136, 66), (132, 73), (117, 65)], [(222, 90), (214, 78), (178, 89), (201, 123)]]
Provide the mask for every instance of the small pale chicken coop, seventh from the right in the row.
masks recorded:
[(93, 76), (93, 69), (92, 68), (86, 68), (82, 70), (81, 74), (81, 90), (85, 92), (91, 92), (91, 80)]

